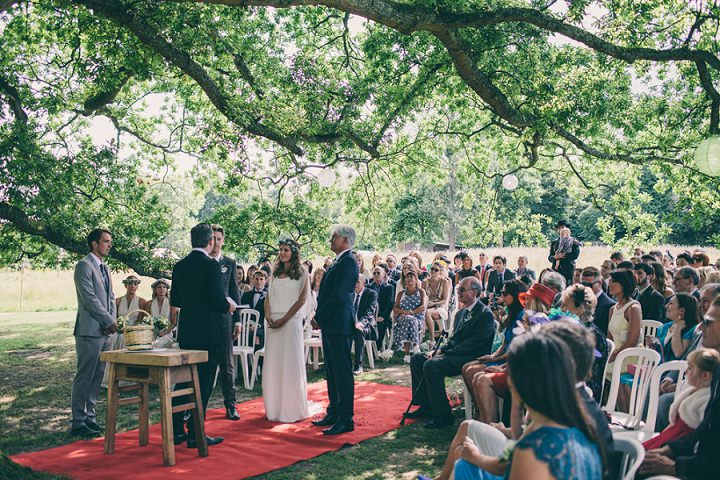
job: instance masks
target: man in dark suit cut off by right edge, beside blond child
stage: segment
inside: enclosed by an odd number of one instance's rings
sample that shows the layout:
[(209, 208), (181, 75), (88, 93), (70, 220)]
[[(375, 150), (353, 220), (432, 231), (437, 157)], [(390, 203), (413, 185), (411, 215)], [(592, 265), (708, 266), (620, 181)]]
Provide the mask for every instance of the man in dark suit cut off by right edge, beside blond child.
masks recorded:
[[(720, 352), (720, 298), (703, 318), (703, 346)], [(683, 479), (717, 477), (720, 451), (720, 366), (715, 367), (710, 400), (695, 431), (661, 448), (648, 450), (640, 466), (643, 475), (674, 475)]]

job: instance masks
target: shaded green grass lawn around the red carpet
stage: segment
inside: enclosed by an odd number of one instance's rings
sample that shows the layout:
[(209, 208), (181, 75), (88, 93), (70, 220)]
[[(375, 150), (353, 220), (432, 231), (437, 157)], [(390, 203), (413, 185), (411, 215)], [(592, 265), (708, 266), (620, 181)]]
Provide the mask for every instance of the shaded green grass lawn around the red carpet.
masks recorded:
[[(70, 390), (75, 372), (72, 336), (75, 312), (0, 313), (0, 480), (63, 478), (13, 464), (6, 455), (72, 443), (69, 434)], [(363, 380), (407, 385), (410, 372), (399, 360), (377, 363)], [(308, 382), (321, 381), (308, 372)], [(242, 383), (242, 381), (240, 381)], [(259, 383), (259, 382), (258, 382)], [(261, 395), (238, 386), (238, 402)], [(156, 397), (156, 395), (155, 395)], [(105, 418), (105, 397), (98, 418)], [(210, 408), (222, 407), (220, 385)], [(151, 402), (151, 422), (160, 420), (157, 400)], [(456, 412), (459, 418), (462, 411)], [(137, 428), (136, 410), (118, 411), (118, 430)], [(442, 467), (454, 428), (429, 432), (422, 425), (393, 430), (352, 447), (255, 477), (257, 479), (414, 479), (417, 473), (436, 474)]]

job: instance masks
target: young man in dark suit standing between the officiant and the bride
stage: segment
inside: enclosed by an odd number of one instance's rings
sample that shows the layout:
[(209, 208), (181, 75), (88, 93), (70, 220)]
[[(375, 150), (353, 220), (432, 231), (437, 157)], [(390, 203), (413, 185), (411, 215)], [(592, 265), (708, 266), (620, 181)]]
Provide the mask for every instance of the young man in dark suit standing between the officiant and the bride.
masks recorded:
[[(225, 244), (225, 229), (220, 225), (212, 225), (214, 246), (210, 257), (220, 264), (220, 285), (223, 292), (233, 299), (236, 305), (240, 303), (240, 293), (237, 287), (237, 265), (235, 260), (222, 254), (222, 247)], [(240, 415), (235, 408), (235, 371), (233, 369), (232, 344), (235, 335), (240, 333), (240, 327), (234, 331), (233, 325), (240, 321), (240, 311), (226, 313), (223, 315), (223, 348), (225, 351), (220, 356), (220, 385), (223, 391), (223, 403), (225, 404), (225, 417), (229, 420), (240, 420)]]

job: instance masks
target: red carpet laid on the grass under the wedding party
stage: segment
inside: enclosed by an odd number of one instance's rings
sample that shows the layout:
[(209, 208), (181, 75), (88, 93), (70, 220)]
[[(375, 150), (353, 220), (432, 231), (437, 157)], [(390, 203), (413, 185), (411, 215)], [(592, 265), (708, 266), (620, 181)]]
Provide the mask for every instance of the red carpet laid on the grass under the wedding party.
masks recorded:
[[(310, 400), (327, 404), (325, 382), (308, 386)], [(278, 424), (263, 418), (261, 398), (238, 405), (242, 419), (225, 420), (225, 409), (208, 412), (206, 431), (222, 435), (225, 441), (210, 447), (210, 456), (201, 458), (197, 450), (184, 444), (175, 447), (176, 464), (164, 467), (160, 444), (160, 425), (150, 427), (150, 444), (138, 445), (137, 430), (115, 437), (115, 453), (103, 453), (103, 439), (78, 441), (71, 445), (11, 457), (21, 465), (75, 479), (107, 478), (224, 478), (240, 479), (292, 465), (326, 452), (355, 444), (397, 428), (407, 404), (410, 389), (372, 382), (355, 385), (355, 431), (328, 437), (310, 420)], [(131, 409), (133, 407), (124, 407)]]

